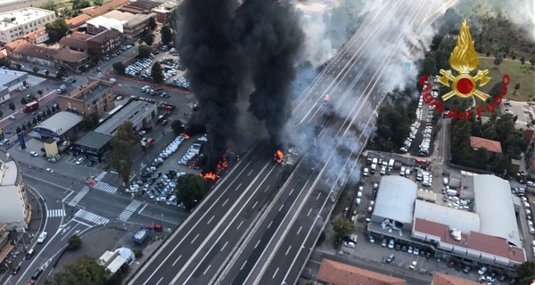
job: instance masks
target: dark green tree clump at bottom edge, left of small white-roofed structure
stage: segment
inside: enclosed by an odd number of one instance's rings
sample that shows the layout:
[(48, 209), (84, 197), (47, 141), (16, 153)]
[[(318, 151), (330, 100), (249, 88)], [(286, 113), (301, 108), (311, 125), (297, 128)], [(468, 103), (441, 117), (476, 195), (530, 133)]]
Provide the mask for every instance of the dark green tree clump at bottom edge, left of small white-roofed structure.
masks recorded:
[(110, 278), (110, 271), (95, 258), (80, 256), (73, 264), (47, 279), (45, 285), (92, 284), (104, 285)]

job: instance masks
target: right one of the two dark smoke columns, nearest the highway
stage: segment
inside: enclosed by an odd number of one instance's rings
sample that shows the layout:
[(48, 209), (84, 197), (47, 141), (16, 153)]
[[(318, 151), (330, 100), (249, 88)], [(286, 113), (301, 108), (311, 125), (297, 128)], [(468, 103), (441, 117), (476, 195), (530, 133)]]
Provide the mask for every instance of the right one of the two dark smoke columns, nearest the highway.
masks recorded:
[(255, 90), (249, 110), (264, 121), (271, 143), (284, 146), (284, 126), (291, 115), (291, 84), (304, 40), (299, 20), (288, 4), (246, 0), (235, 12), (232, 35), (249, 60)]

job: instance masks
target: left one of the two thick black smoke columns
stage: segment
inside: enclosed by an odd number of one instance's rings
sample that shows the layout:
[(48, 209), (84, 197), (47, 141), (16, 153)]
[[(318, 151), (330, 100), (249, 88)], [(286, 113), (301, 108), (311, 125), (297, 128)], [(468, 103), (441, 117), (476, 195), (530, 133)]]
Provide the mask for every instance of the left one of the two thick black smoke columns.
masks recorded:
[(185, 0), (178, 7), (177, 50), (187, 68), (199, 110), (193, 124), (206, 126), (207, 171), (213, 170), (235, 135), (242, 58), (227, 35), (234, 0)]

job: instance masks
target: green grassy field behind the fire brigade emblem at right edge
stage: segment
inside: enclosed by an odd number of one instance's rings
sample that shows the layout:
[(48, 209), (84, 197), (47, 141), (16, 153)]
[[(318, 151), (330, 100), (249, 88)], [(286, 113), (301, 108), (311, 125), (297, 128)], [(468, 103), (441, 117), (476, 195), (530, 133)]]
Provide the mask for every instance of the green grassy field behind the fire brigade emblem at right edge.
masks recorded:
[[(481, 91), (489, 93), (490, 88), (497, 82), (501, 82), (504, 74), (508, 74), (511, 78), (511, 83), (507, 88), (506, 97), (512, 101), (527, 101), (535, 99), (535, 68), (533, 68), (529, 61), (524, 64), (520, 61), (512, 61), (505, 59), (500, 65), (494, 64), (493, 58), (480, 58), (480, 66), (478, 69), (489, 69), (490, 82), (487, 85), (481, 86)], [(514, 94), (514, 85), (520, 83), (520, 89)]]

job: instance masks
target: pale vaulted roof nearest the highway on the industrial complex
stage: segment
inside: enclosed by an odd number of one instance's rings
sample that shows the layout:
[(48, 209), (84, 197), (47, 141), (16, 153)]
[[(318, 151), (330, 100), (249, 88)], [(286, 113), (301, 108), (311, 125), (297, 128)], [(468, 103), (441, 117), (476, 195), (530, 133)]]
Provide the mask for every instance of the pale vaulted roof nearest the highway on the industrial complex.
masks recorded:
[(399, 175), (383, 176), (375, 199), (374, 215), (402, 223), (413, 221), (416, 183)]

